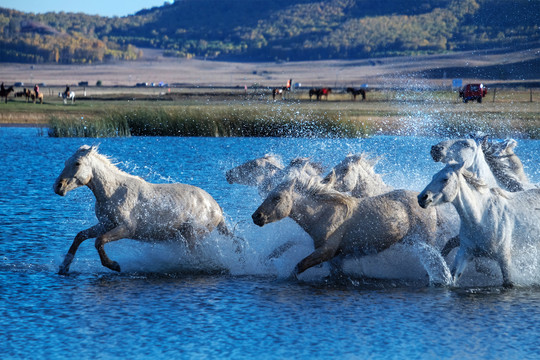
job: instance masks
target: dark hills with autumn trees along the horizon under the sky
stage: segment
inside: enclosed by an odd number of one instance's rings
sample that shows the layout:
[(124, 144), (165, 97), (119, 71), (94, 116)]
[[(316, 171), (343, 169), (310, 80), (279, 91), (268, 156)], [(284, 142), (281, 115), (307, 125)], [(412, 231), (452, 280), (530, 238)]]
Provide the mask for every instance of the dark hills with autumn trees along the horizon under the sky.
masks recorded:
[[(0, 9), (0, 59), (357, 59), (536, 47), (540, 1), (177, 0), (122, 18)], [(31, 23), (28, 27), (23, 24)]]

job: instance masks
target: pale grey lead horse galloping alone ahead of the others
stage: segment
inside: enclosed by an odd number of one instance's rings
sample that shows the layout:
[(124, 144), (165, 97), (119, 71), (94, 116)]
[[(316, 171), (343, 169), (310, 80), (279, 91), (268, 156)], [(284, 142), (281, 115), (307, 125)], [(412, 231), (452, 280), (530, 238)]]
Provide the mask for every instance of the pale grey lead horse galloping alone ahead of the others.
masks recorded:
[(193, 249), (215, 228), (232, 237), (221, 207), (206, 191), (187, 184), (148, 183), (118, 169), (98, 153), (97, 147), (81, 146), (65, 162), (54, 183), (54, 192), (65, 196), (83, 185), (96, 197), (98, 223), (77, 234), (60, 266), (60, 274), (68, 273), (79, 245), (89, 238), (96, 238), (103, 266), (120, 271), (120, 265), (110, 260), (104, 250), (111, 241), (183, 239)]

